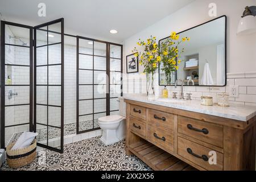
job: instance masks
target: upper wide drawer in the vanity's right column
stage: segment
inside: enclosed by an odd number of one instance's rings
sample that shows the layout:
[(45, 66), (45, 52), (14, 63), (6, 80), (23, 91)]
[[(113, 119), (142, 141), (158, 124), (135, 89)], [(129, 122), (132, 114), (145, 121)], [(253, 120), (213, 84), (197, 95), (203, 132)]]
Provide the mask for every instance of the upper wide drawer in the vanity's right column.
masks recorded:
[(223, 147), (223, 126), (179, 116), (178, 132)]

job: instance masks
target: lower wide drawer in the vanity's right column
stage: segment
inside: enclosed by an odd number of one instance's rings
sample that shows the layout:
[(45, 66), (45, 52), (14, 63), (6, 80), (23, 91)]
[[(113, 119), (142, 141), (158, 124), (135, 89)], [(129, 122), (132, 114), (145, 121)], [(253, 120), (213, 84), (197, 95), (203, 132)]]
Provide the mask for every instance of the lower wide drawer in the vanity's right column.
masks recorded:
[[(209, 164), (208, 160), (212, 156), (209, 156), (210, 151), (214, 151), (210, 148), (201, 146), (195, 142), (191, 142), (190, 140), (178, 137), (178, 149), (177, 154), (182, 156), (183, 158), (207, 169), (214, 171), (222, 171), (223, 170), (223, 154), (220, 152), (216, 152), (217, 164)], [(210, 160), (212, 161), (212, 160)]]

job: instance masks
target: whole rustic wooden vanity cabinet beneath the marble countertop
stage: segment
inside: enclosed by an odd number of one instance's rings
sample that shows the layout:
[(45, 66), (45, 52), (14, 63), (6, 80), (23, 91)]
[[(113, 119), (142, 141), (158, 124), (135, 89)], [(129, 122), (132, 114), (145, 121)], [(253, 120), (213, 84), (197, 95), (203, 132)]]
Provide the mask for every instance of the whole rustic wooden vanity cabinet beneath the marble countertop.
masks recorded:
[[(255, 121), (126, 102), (126, 154), (155, 170), (255, 170)], [(216, 156), (216, 164), (212, 156)]]

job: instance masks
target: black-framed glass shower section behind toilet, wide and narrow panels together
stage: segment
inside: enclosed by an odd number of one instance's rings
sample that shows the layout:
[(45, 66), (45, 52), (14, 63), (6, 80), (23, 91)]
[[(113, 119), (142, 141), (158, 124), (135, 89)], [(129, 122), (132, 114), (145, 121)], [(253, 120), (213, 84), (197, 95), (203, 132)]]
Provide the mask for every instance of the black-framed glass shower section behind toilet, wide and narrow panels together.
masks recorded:
[(122, 46), (77, 36), (77, 134), (97, 130), (117, 114), (122, 95)]

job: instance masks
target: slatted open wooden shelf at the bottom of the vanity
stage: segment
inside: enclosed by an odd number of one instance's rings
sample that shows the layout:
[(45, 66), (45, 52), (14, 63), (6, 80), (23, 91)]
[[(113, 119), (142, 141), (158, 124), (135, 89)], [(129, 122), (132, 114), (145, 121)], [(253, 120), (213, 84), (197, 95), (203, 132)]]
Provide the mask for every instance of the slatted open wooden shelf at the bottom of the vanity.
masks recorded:
[(177, 159), (175, 156), (156, 147), (154, 144), (141, 140), (130, 145), (130, 151), (144, 163), (156, 171), (196, 171), (196, 168)]

